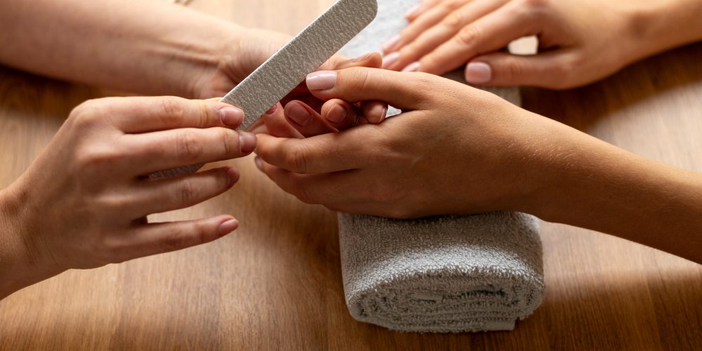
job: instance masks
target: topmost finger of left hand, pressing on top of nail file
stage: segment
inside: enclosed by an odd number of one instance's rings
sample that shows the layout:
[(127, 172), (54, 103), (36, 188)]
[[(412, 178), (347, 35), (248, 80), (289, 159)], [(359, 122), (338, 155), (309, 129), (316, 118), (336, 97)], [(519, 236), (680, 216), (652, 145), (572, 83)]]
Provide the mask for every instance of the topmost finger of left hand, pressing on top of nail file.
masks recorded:
[(244, 112), (213, 100), (174, 96), (110, 98), (105, 118), (124, 133), (148, 133), (176, 128), (237, 128)]

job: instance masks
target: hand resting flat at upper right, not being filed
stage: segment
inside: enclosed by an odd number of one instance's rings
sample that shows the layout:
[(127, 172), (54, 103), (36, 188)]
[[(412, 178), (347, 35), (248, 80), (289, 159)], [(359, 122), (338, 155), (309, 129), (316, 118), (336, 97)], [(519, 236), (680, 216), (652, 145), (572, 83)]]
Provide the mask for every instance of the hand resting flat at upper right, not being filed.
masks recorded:
[[(468, 63), (471, 84), (581, 86), (650, 54), (658, 39), (642, 37), (645, 7), (633, 0), (426, 0), (383, 46), (384, 67), (444, 74)], [(501, 51), (530, 35), (541, 53)]]

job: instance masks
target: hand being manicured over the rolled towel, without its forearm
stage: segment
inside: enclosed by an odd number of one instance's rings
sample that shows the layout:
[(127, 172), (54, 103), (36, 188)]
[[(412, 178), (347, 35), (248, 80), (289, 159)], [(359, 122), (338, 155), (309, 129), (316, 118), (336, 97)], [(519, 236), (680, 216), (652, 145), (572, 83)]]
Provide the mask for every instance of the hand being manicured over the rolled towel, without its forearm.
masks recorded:
[(257, 165), (267, 176), (335, 211), (414, 218), (524, 210), (547, 150), (579, 133), (429, 74), (352, 68), (310, 74), (308, 84), (316, 79), (312, 93), (322, 100), (382, 100), (406, 111), (302, 140), (258, 135)]

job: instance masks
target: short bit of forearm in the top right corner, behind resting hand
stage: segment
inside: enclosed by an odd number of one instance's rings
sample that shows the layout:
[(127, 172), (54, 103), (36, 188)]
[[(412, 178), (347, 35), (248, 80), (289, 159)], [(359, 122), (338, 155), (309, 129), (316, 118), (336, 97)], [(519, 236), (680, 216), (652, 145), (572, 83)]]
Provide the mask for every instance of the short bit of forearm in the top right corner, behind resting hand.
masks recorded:
[(633, 1), (630, 13), (637, 59), (702, 40), (702, 1)]

